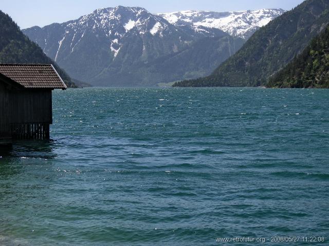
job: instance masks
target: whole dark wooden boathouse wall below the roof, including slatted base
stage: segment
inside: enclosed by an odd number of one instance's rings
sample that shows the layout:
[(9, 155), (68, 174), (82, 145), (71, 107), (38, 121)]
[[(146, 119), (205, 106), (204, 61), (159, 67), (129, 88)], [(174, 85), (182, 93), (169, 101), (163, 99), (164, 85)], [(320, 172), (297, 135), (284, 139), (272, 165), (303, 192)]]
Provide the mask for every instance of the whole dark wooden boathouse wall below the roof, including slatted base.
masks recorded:
[(13, 139), (48, 139), (52, 124), (51, 90), (6, 90), (1, 84), (0, 135)]

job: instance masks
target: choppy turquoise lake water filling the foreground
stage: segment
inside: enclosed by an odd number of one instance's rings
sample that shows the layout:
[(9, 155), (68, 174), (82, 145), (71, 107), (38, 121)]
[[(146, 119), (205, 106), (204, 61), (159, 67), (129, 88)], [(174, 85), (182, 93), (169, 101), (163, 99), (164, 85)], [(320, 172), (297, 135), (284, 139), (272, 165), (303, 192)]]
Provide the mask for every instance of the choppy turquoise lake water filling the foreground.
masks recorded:
[(51, 141), (0, 154), (0, 245), (329, 245), (328, 108), (320, 89), (56, 90)]

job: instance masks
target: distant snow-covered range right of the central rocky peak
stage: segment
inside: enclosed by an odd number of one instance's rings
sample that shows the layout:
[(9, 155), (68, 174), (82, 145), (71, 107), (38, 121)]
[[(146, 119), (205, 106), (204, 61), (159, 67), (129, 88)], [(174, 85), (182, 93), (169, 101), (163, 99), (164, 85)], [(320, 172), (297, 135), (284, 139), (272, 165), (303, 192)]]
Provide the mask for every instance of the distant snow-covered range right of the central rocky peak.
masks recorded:
[(184, 26), (217, 28), (231, 36), (248, 39), (260, 27), (282, 15), (283, 9), (260, 9), (236, 12), (178, 11), (157, 14), (169, 23)]

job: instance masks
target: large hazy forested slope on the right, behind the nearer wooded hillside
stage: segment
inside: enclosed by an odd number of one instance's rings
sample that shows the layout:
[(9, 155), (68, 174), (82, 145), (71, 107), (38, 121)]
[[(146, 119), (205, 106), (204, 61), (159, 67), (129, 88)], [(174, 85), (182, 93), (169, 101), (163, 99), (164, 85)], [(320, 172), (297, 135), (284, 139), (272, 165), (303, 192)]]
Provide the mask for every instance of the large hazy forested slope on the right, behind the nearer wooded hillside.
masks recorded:
[(255, 32), (210, 76), (174, 86), (260, 86), (301, 53), (329, 23), (329, 1), (307, 0)]

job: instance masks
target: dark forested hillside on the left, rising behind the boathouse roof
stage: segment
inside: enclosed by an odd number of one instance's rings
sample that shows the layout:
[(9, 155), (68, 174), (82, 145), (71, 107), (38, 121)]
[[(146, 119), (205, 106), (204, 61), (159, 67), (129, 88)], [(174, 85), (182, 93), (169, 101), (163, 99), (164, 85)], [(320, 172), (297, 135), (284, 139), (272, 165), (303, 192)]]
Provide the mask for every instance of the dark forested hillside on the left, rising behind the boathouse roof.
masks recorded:
[(0, 10), (0, 63), (53, 64), (67, 87), (76, 87), (67, 73), (25, 36), (8, 14)]

